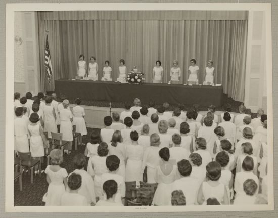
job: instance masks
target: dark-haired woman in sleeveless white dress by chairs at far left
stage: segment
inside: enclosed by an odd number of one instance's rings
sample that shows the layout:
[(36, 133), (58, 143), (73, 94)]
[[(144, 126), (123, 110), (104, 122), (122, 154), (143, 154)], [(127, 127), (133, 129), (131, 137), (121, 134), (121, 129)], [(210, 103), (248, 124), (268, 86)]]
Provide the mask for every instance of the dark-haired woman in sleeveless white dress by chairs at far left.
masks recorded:
[[(39, 116), (37, 113), (32, 113), (29, 118), (31, 124), (28, 125), (28, 130), (30, 133), (30, 150), (31, 150), (31, 156), (33, 159), (39, 159), (42, 160), (42, 157), (44, 157), (44, 147), (47, 146), (47, 139), (45, 138), (45, 135), (43, 133), (43, 130), (41, 128), (39, 121)], [(38, 173), (37, 168), (35, 169), (35, 174)]]

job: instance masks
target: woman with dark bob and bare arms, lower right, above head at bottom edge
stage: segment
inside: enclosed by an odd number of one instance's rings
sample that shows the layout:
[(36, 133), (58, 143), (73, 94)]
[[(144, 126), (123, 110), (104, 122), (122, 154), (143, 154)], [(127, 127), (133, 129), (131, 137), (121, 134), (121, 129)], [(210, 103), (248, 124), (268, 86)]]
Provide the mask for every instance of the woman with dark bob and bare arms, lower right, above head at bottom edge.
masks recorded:
[(207, 181), (200, 186), (197, 202), (206, 205), (209, 198), (216, 198), (220, 204), (229, 204), (227, 189), (218, 180), (221, 177), (221, 165), (212, 161), (206, 166)]

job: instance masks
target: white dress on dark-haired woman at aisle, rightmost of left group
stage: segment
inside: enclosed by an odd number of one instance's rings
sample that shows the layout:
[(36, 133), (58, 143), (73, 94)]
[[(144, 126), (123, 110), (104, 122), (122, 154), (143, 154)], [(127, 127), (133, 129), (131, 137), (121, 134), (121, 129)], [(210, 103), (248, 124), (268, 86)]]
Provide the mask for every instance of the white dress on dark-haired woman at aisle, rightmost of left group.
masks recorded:
[(87, 135), (85, 119), (85, 110), (79, 105), (72, 108), (73, 124), (76, 125), (76, 133), (81, 133), (82, 136)]

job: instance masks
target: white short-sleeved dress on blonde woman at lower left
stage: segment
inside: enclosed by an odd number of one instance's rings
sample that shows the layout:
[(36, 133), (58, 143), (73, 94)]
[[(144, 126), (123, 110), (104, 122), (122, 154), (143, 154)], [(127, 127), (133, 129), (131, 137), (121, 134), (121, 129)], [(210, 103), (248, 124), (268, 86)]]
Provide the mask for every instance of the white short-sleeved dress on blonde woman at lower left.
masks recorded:
[(51, 180), (48, 186), (45, 206), (60, 206), (61, 196), (66, 191), (63, 181), (64, 178), (68, 176), (67, 170), (60, 168), (58, 171), (54, 172), (50, 169), (50, 165), (48, 165), (44, 172), (49, 175)]

